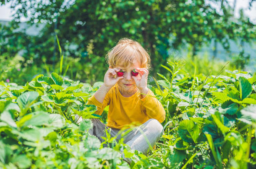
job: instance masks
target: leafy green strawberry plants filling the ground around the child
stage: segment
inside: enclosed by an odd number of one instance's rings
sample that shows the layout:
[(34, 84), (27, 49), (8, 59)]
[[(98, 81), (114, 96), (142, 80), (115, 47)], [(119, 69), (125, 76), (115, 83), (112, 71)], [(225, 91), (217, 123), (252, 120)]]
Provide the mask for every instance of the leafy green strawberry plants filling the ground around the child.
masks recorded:
[[(107, 107), (98, 116), (86, 104), (100, 81), (90, 85), (51, 73), (24, 86), (0, 82), (0, 168), (255, 168), (256, 73), (223, 67), (215, 75), (188, 76), (179, 62), (162, 67), (167, 73), (148, 87), (165, 108), (164, 132), (147, 155), (108, 133), (103, 147), (88, 133), (89, 119), (107, 117)], [(80, 125), (77, 115), (84, 119)], [(121, 158), (122, 148), (131, 165)]]

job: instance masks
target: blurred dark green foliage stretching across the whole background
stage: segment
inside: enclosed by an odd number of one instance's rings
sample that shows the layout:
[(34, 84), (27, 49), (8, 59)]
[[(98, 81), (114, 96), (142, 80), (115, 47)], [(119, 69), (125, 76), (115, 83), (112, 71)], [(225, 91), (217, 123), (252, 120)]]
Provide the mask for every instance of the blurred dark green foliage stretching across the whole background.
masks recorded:
[[(57, 34), (64, 55), (63, 68), (69, 64), (66, 75), (89, 83), (102, 80), (108, 68), (104, 56), (123, 37), (138, 40), (148, 50), (152, 76), (163, 73), (161, 64), (170, 57), (168, 50), (184, 50), (184, 44), (191, 44), (194, 56), (203, 43), (212, 39), (226, 50), (229, 50), (228, 40), (240, 43), (255, 40), (254, 24), (243, 15), (233, 18), (233, 9), (226, 0), (213, 1), (221, 4), (223, 14), (217, 13), (204, 0), (10, 2), (13, 8), (16, 7), (16, 14), (10, 26), (2, 29), (0, 55), (13, 57), (22, 50), (25, 58), (22, 67), (32, 62), (44, 69), (39, 73), (54, 71), (58, 68), (55, 64), (60, 61)], [(42, 24), (42, 30), (37, 35), (28, 35), (25, 31), (13, 33), (22, 16), (29, 19), (27, 24)], [(241, 51), (235, 60), (237, 68), (244, 68), (248, 63), (243, 58), (246, 55)]]

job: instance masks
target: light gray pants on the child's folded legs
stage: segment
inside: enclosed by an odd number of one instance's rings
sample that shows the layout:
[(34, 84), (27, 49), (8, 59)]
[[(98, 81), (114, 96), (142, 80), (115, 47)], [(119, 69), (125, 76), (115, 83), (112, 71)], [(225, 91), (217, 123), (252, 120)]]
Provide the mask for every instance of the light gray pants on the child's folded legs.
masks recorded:
[[(104, 140), (101, 136), (106, 137), (105, 130), (108, 126), (103, 124), (99, 119), (91, 119), (93, 128), (89, 129), (91, 135), (97, 136), (101, 142)], [(163, 126), (156, 119), (149, 119), (141, 126), (120, 131), (118, 129), (110, 129), (110, 136), (117, 137), (119, 141), (124, 138), (124, 143), (128, 144), (133, 150), (141, 151), (146, 154), (150, 147), (153, 147), (162, 135)], [(150, 146), (149, 146), (150, 145)]]

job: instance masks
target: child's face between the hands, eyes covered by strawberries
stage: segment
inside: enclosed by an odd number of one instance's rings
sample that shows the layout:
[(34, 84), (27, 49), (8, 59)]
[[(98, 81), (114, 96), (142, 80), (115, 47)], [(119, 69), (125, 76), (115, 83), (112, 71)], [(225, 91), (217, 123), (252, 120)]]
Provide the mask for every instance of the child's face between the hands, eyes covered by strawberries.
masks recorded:
[[(133, 62), (133, 64), (128, 65), (127, 67), (121, 67), (121, 66), (116, 66), (115, 68), (120, 68), (124, 73), (123, 73), (123, 79), (118, 81), (118, 86), (119, 90), (121, 93), (134, 93), (137, 91), (136, 83), (134, 79), (132, 78), (131, 71), (135, 68), (140, 68), (139, 63)], [(140, 75), (136, 76), (138, 79), (140, 79)]]

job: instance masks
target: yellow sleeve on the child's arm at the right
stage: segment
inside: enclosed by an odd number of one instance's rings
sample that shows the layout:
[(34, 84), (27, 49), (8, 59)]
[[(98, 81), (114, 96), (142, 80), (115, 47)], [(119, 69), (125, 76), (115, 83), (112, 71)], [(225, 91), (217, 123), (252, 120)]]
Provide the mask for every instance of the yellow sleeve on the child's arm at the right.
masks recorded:
[(160, 123), (165, 120), (165, 109), (155, 98), (154, 93), (149, 89), (146, 96), (141, 101), (141, 108), (151, 119), (157, 119)]

